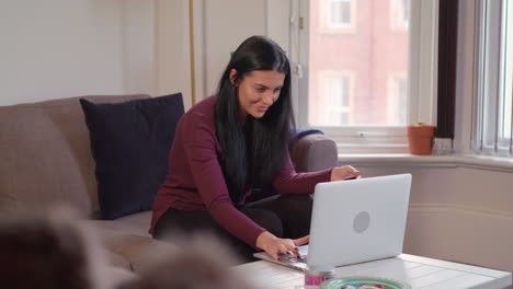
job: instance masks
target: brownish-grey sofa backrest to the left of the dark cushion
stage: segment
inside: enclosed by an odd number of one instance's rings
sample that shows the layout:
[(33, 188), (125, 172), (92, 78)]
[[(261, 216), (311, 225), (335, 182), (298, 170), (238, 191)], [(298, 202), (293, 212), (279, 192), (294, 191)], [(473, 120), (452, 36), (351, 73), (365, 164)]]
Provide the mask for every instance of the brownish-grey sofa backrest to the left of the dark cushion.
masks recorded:
[(94, 160), (79, 99), (124, 102), (148, 95), (95, 95), (0, 106), (0, 207), (67, 203), (99, 211)]

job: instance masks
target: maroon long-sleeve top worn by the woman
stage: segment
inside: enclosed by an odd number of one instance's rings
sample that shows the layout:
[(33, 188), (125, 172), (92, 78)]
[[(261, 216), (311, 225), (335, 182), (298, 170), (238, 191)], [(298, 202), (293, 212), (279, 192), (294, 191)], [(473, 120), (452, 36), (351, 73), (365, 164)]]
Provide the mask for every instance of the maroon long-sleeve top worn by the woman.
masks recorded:
[[(224, 157), (214, 120), (216, 100), (216, 96), (210, 96), (197, 103), (176, 125), (168, 175), (153, 201), (150, 233), (169, 208), (208, 210), (228, 232), (255, 247), (256, 238), (265, 229), (239, 211), (231, 201), (220, 165)], [(273, 186), (280, 194), (311, 194), (315, 185), (329, 182), (330, 175), (331, 169), (296, 173), (287, 160), (274, 177)], [(237, 205), (242, 205), (250, 193), (248, 189)]]

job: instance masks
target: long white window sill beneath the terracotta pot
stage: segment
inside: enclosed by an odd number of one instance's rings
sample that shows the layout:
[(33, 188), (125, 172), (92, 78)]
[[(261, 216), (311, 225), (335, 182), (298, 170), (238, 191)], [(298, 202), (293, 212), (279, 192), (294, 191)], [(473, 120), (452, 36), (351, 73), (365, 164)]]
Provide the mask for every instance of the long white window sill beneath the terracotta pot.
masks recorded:
[(513, 159), (478, 154), (339, 153), (339, 163), (365, 166), (471, 167), (513, 172)]

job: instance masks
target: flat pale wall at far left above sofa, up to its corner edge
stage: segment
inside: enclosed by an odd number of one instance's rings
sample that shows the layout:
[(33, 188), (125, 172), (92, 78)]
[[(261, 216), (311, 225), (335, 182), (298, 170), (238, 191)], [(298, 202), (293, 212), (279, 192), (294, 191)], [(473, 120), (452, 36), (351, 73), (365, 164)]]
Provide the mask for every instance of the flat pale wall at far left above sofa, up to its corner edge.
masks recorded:
[(116, 1), (0, 2), (0, 104), (123, 93)]

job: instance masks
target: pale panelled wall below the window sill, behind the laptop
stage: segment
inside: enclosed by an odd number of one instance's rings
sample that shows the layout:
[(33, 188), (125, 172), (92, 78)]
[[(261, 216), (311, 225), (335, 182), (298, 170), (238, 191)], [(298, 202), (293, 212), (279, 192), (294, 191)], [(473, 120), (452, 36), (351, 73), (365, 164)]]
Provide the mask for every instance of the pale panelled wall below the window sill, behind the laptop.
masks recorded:
[(436, 159), (343, 163), (364, 176), (413, 175), (406, 253), (513, 271), (513, 167)]

